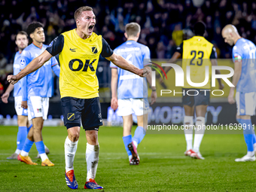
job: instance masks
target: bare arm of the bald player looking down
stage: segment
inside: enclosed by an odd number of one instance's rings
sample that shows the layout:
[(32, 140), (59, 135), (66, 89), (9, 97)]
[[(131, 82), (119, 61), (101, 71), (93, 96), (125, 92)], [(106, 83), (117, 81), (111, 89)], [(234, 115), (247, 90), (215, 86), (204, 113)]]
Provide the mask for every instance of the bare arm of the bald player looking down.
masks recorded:
[(241, 76), (241, 72), (242, 72), (242, 61), (235, 62), (235, 64), (234, 64), (234, 75), (233, 75), (233, 79), (232, 79), (232, 84), (235, 87), (230, 87), (230, 93), (227, 97), (227, 100), (230, 104), (235, 103), (235, 100), (233, 99), (233, 96), (235, 94), (236, 84), (239, 81), (239, 78)]

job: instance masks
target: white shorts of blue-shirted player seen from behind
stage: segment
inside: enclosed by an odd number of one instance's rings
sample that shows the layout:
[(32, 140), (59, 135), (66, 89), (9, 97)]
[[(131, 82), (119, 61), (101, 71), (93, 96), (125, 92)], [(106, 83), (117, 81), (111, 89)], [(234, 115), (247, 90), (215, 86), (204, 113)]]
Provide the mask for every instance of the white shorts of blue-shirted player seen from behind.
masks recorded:
[(118, 99), (118, 116), (148, 114), (148, 99)]

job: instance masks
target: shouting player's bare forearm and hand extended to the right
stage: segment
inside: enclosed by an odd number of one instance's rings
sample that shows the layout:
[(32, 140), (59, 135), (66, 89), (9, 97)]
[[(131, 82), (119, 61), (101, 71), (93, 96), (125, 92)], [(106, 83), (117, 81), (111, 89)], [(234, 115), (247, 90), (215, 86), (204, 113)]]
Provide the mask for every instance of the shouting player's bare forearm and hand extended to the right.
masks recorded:
[(136, 66), (133, 66), (132, 64), (127, 62), (126, 59), (123, 58), (123, 56), (119, 56), (116, 53), (113, 53), (109, 57), (105, 57), (105, 59), (113, 62), (114, 65), (120, 67), (120, 69), (125, 69), (129, 72), (139, 75), (140, 77), (145, 77), (149, 73), (148, 69), (138, 69), (136, 68)]

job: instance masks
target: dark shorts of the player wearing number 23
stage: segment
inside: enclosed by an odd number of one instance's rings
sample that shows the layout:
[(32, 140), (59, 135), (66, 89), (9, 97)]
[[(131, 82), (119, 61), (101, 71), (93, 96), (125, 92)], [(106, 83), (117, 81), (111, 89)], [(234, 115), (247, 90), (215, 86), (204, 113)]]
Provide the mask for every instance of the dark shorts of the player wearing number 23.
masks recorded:
[[(182, 96), (183, 105), (189, 105), (190, 107), (197, 106), (197, 105), (209, 105), (210, 90), (184, 88), (183, 91), (184, 91), (184, 96)], [(187, 93), (189, 95), (187, 95)]]

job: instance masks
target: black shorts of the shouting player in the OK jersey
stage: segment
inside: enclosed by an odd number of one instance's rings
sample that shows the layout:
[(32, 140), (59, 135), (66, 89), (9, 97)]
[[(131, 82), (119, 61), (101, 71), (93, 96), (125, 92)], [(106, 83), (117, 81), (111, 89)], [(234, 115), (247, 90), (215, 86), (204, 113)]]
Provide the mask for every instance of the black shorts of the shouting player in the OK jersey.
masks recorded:
[(67, 129), (73, 126), (81, 126), (81, 122), (84, 130), (99, 130), (99, 126), (102, 126), (99, 97), (92, 99), (63, 97), (61, 105), (64, 124)]

